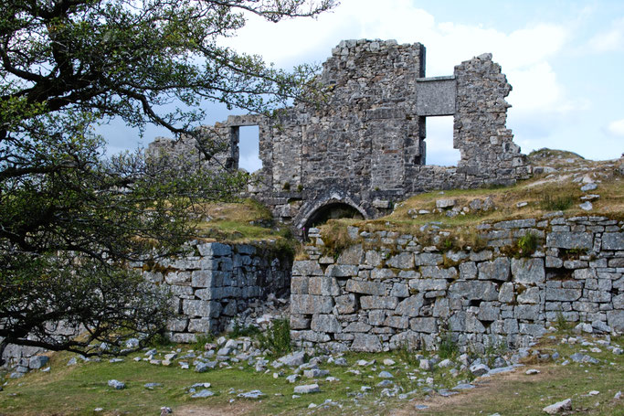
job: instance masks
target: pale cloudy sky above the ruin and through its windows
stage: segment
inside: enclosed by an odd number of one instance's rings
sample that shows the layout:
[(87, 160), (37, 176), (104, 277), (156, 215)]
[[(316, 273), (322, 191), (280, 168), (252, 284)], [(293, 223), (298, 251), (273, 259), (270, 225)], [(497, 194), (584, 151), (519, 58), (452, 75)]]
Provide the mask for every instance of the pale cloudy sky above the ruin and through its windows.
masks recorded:
[[(624, 153), (622, 0), (342, 0), (315, 19), (249, 17), (227, 45), (290, 69), (321, 63), (342, 39), (358, 38), (422, 43), (428, 77), (452, 75), (461, 61), (491, 52), (513, 86), (507, 127), (525, 154), (542, 147), (594, 160)], [(206, 123), (227, 118), (224, 108), (208, 110)], [(122, 123), (100, 133), (113, 153), (168, 135), (148, 128), (140, 139)], [(428, 164), (459, 160), (452, 117), (428, 117), (426, 142)], [(257, 129), (241, 130), (240, 165), (255, 170), (257, 154)]]

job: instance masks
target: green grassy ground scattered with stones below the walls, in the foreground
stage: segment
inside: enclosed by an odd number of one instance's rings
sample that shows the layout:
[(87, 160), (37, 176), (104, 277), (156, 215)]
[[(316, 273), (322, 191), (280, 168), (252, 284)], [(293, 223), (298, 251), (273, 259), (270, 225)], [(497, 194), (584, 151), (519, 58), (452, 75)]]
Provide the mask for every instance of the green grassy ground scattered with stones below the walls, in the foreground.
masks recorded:
[[(2, 415), (156, 415), (161, 406), (169, 406), (174, 414), (323, 414), (323, 415), (375, 415), (375, 414), (427, 414), (427, 415), (534, 415), (543, 414), (545, 406), (555, 401), (572, 399), (574, 414), (622, 415), (624, 400), (614, 400), (614, 395), (624, 389), (624, 356), (614, 355), (604, 347), (602, 352), (590, 353), (589, 347), (562, 345), (561, 335), (555, 340), (545, 338), (537, 348), (540, 352), (552, 353), (555, 349), (562, 358), (557, 361), (537, 362), (526, 360), (526, 367), (515, 372), (492, 378), (476, 379), (476, 389), (451, 397), (437, 393), (426, 393), (418, 386), (417, 379), (433, 377), (436, 386), (450, 388), (460, 380), (468, 381), (466, 373), (453, 378), (447, 372), (418, 370), (410, 356), (403, 353), (348, 354), (348, 367), (324, 364), (320, 368), (330, 370), (337, 381), (318, 380), (322, 392), (292, 398), (293, 387), (309, 384), (310, 379), (300, 379), (295, 384), (285, 377), (273, 378), (280, 370), (270, 368), (267, 373), (257, 373), (247, 364), (232, 364), (231, 368), (219, 368), (198, 374), (192, 370), (134, 362), (130, 357), (123, 363), (82, 363), (67, 367), (69, 354), (54, 354), (49, 373), (33, 371), (23, 379), (11, 379), (0, 392), (0, 414)], [(590, 340), (588, 336), (586, 339)], [(622, 345), (624, 339), (614, 339)], [(598, 346), (599, 347), (599, 346)], [(598, 365), (571, 363), (561, 366), (561, 361), (573, 352), (587, 350), (600, 360)], [(381, 363), (392, 357), (397, 364), (384, 367)], [(375, 365), (356, 365), (358, 359), (375, 359)], [(524, 374), (526, 368), (537, 368), (537, 375)], [(280, 368), (285, 375), (291, 370)], [(414, 395), (399, 399), (382, 394), (383, 389), (375, 387), (381, 380), (378, 374), (383, 369), (394, 375), (393, 381), (404, 392), (417, 389)], [(354, 371), (355, 370), (355, 371)], [(126, 389), (115, 390), (107, 386), (107, 380), (119, 379), (127, 384)], [(163, 387), (145, 389), (144, 383), (158, 382)], [(210, 390), (216, 393), (206, 399), (191, 399), (185, 391), (197, 382), (210, 382)], [(348, 393), (358, 392), (362, 386), (372, 389), (364, 397), (354, 400)], [(437, 387), (438, 388), (438, 387)], [(259, 400), (237, 397), (242, 391), (260, 389), (266, 394)], [(597, 396), (587, 396), (591, 390), (598, 390)], [(233, 394), (231, 392), (233, 392)], [(332, 400), (333, 405), (309, 409), (310, 403), (322, 405)], [(428, 409), (415, 411), (417, 404)], [(102, 408), (102, 411), (94, 411)]]

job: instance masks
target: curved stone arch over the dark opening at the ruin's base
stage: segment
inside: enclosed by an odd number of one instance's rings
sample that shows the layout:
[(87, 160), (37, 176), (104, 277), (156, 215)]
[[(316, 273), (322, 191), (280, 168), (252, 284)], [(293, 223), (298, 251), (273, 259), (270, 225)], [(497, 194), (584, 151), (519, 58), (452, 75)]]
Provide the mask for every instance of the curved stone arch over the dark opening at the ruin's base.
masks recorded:
[(370, 208), (366, 207), (361, 201), (355, 197), (350, 197), (346, 192), (341, 190), (332, 190), (324, 192), (319, 197), (316, 197), (310, 201), (305, 202), (299, 211), (299, 214), (294, 218), (294, 225), (297, 230), (303, 236), (304, 228), (308, 228), (309, 224), (316, 218), (316, 216), (323, 213), (323, 210), (331, 208), (352, 208), (354, 211), (362, 215), (364, 219), (371, 219), (375, 216), (375, 213)]

